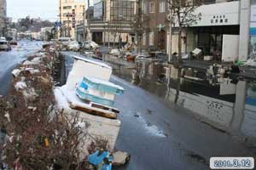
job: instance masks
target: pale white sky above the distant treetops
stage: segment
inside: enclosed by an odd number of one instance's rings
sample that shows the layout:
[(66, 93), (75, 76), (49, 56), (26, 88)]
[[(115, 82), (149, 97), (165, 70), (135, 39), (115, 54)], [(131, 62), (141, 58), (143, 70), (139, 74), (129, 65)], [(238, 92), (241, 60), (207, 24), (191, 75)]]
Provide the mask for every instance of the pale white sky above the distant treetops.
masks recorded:
[(42, 18), (44, 20), (57, 20), (58, 1), (57, 0), (7, 0), (7, 15), (13, 21), (25, 18)]

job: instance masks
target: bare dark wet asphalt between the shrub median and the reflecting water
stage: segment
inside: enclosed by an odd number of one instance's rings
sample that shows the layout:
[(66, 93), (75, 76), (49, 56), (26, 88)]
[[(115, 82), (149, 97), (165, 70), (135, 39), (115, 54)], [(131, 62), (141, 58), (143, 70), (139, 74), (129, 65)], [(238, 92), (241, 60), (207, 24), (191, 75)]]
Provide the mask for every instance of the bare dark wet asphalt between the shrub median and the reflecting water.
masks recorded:
[[(72, 59), (66, 58), (70, 69)], [(131, 153), (130, 163), (119, 169), (209, 169), (211, 156), (256, 156), (241, 139), (200, 122), (190, 111), (119, 77), (111, 82), (125, 88), (115, 103), (122, 122), (116, 148)]]

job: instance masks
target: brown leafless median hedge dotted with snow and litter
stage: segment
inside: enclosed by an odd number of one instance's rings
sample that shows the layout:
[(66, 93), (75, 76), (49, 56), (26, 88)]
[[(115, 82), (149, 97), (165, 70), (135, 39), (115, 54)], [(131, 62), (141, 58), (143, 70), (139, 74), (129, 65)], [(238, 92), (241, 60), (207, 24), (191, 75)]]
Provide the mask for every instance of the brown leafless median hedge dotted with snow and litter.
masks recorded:
[(0, 98), (0, 164), (4, 167), (86, 169), (80, 164), (79, 146), (88, 134), (82, 132), (76, 116), (55, 110), (54, 64), (55, 49), (47, 48), (12, 71), (9, 95)]

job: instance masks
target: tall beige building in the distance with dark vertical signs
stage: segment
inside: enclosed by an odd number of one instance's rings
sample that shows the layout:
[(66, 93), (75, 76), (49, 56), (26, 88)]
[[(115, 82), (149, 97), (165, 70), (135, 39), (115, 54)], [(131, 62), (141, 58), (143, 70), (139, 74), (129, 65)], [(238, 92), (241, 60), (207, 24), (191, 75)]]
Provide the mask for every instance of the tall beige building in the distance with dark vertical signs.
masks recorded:
[[(61, 37), (76, 38), (75, 26), (84, 24), (86, 9), (85, 0), (59, 0), (59, 14), (61, 15), (59, 17), (62, 23)], [(73, 20), (73, 13), (75, 20)]]

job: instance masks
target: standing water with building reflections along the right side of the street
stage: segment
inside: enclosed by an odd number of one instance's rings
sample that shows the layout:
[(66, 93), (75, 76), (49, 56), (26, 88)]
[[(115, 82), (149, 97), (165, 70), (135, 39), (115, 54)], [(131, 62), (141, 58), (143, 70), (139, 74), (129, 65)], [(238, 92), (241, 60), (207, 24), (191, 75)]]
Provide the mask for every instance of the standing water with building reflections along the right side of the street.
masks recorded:
[(113, 74), (195, 113), (203, 122), (256, 139), (256, 83), (160, 62), (129, 63), (106, 56)]

